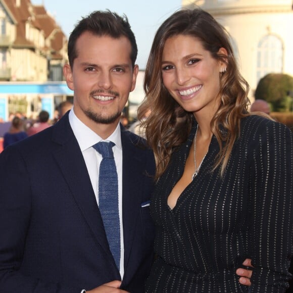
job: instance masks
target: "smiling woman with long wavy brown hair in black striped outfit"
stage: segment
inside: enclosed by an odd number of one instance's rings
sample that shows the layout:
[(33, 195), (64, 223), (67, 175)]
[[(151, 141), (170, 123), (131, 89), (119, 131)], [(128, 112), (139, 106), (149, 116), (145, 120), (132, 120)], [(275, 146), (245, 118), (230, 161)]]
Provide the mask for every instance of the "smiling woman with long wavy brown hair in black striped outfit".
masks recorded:
[[(292, 243), (290, 130), (248, 113), (229, 37), (205, 11), (158, 29), (145, 70), (157, 259), (146, 292), (283, 292)], [(236, 268), (251, 258), (252, 286)]]

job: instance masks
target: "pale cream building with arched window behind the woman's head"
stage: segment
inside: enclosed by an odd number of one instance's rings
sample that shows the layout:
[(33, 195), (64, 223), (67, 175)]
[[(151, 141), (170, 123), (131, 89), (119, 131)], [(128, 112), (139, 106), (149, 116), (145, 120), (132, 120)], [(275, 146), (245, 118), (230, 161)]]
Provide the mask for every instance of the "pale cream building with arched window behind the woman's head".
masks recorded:
[(251, 86), (268, 73), (293, 76), (292, 0), (182, 0), (182, 7), (201, 7), (231, 35), (243, 77)]

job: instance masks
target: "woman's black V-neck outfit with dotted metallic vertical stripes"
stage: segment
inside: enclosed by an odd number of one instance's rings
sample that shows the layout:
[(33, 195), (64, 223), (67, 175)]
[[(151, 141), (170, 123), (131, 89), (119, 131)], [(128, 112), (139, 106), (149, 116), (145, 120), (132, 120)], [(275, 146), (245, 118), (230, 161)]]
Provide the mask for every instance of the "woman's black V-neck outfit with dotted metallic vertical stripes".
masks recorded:
[[(199, 175), (171, 210), (167, 198), (196, 127), (152, 196), (157, 259), (145, 292), (284, 292), (292, 253), (291, 131), (260, 116), (243, 118), (223, 179), (219, 170), (211, 172), (219, 151), (213, 136)], [(255, 266), (250, 288), (235, 274), (246, 258)]]

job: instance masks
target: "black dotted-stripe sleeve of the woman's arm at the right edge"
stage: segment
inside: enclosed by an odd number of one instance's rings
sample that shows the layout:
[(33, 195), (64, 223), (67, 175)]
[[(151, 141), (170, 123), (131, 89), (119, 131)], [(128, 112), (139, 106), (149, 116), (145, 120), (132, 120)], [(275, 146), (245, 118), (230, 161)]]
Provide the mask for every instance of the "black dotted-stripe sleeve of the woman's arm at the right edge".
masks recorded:
[(270, 122), (251, 149), (249, 250), (255, 267), (251, 292), (284, 292), (292, 255), (293, 137)]

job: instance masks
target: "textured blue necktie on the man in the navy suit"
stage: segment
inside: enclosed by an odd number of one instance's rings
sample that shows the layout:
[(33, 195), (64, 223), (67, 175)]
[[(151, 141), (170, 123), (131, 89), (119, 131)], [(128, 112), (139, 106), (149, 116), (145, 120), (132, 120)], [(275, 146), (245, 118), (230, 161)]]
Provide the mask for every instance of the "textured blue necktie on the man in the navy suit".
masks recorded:
[(99, 209), (109, 247), (118, 270), (120, 269), (120, 222), (118, 207), (118, 176), (113, 155), (114, 142), (98, 142), (93, 148), (103, 159), (99, 172)]

